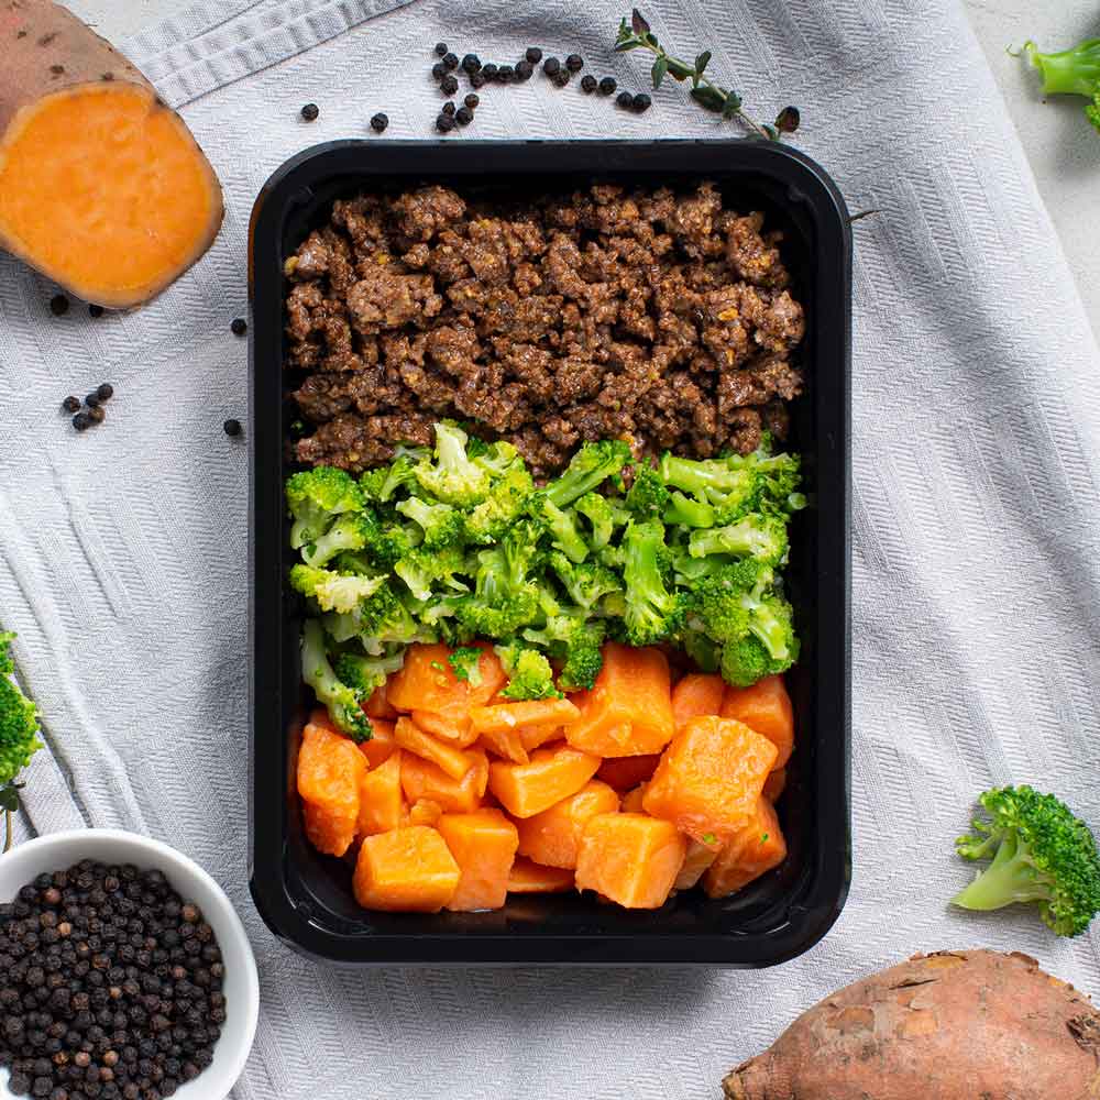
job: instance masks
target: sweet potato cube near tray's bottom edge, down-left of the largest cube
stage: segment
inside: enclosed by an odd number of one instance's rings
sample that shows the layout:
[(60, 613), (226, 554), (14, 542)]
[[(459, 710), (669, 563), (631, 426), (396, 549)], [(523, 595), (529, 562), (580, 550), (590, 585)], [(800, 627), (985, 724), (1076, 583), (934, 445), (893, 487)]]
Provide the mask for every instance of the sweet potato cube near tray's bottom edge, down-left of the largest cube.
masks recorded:
[(627, 909), (660, 909), (680, 873), (688, 842), (671, 822), (645, 814), (590, 818), (576, 860), (576, 888)]

